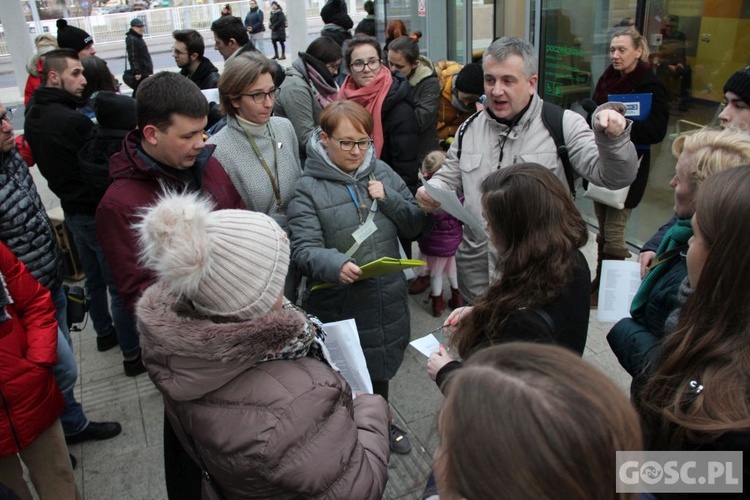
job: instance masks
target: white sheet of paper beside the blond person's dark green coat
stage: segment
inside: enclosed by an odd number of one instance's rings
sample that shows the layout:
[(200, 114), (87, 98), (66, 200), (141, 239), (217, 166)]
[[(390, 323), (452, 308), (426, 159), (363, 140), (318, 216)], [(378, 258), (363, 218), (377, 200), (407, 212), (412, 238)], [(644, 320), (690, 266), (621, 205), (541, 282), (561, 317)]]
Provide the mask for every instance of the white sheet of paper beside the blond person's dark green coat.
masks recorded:
[(599, 282), (596, 319), (616, 323), (630, 317), (630, 304), (641, 286), (641, 265), (628, 260), (605, 260)]

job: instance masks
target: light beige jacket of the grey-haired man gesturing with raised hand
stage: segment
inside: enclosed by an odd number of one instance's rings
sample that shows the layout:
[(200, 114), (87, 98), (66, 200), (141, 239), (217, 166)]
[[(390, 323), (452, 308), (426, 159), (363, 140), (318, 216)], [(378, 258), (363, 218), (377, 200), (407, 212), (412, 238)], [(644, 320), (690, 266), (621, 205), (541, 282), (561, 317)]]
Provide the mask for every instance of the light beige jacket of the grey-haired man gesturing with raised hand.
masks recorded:
[[(464, 206), (481, 224), (485, 220), (480, 184), (498, 166), (539, 163), (568, 185), (555, 141), (542, 122), (542, 99), (538, 95), (534, 94), (526, 111), (512, 127), (496, 120), (487, 109), (466, 127), (461, 158), (458, 157), (458, 141), (454, 141), (442, 168), (429, 181), (436, 187), (463, 194)], [(628, 121), (622, 135), (608, 137), (604, 132), (592, 130), (581, 115), (566, 110), (563, 134), (575, 172), (589, 182), (609, 189), (630, 185), (638, 169), (635, 147), (630, 142), (631, 127), (632, 122)], [(494, 279), (496, 262), (497, 256), (489, 239), (469, 226), (464, 227), (463, 240), (456, 253), (461, 295), (472, 301), (483, 293)]]

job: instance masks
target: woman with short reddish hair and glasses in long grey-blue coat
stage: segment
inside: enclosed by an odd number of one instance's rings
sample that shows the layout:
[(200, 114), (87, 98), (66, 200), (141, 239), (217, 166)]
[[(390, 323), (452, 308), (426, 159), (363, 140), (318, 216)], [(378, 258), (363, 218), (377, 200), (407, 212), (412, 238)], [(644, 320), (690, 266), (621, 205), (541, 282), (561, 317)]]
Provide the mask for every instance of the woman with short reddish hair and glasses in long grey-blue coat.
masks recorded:
[[(302, 178), (289, 202), (292, 260), (307, 288), (303, 307), (323, 322), (354, 318), (374, 392), (388, 400), (388, 381), (409, 343), (409, 300), (403, 273), (360, 280), (360, 266), (399, 258), (398, 237), (414, 238), (427, 216), (373, 144), (374, 120), (352, 101), (329, 104), (307, 145)], [(311, 291), (317, 283), (335, 286)], [(391, 450), (411, 450), (390, 426)]]

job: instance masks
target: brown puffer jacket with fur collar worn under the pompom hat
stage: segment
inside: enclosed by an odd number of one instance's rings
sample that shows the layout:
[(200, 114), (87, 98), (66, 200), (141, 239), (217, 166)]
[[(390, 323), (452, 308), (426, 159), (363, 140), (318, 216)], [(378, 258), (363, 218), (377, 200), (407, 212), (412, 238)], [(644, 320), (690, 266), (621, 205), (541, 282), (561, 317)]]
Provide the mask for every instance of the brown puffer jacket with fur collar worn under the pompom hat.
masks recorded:
[(385, 401), (353, 401), (344, 379), (312, 357), (260, 362), (300, 336), (303, 314), (285, 307), (215, 323), (185, 309), (160, 282), (146, 290), (143, 361), (183, 447), (194, 460), (197, 450), (226, 498), (381, 498)]

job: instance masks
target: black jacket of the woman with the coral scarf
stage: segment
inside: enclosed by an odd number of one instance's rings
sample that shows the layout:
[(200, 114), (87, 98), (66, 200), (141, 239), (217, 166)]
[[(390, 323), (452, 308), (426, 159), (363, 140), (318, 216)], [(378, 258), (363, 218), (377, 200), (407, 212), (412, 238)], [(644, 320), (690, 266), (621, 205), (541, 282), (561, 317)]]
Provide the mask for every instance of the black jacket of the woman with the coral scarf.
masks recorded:
[(391, 72), (393, 83), (383, 101), (383, 153), (380, 159), (401, 176), (414, 194), (419, 182), (419, 121), (411, 100), (411, 86), (403, 75)]

